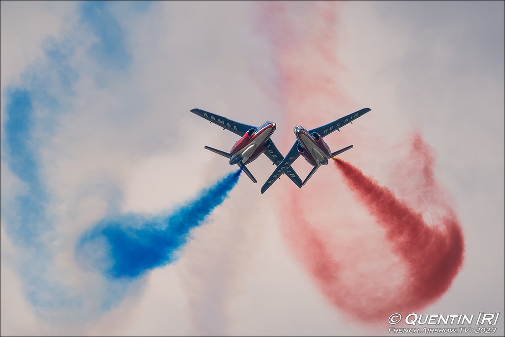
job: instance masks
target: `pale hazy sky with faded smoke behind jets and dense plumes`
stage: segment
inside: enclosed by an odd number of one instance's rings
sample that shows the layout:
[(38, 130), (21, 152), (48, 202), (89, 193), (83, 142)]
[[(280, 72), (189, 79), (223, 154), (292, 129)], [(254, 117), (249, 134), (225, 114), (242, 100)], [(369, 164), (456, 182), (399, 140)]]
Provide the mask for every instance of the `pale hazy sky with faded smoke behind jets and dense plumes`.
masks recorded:
[[(238, 137), (192, 108), (273, 120), (284, 154), (294, 125), (371, 108), (325, 138), (332, 151), (352, 143), (342, 159), (427, 224), (450, 210), (464, 237), (447, 291), (411, 312), (503, 315), (503, 2), (1, 6), (2, 335), (387, 334), (387, 315), (364, 312), (408, 287), (407, 269), (333, 164), (301, 190), (283, 178), (261, 195), (273, 166), (260, 157), (248, 165), (259, 183), (240, 177), (178, 259), (137, 277), (79, 262), (100, 221), (176, 214), (236, 171), (204, 146), (229, 151)], [(414, 134), (433, 149), (435, 189)], [(299, 223), (338, 260), (338, 281), (310, 272)], [(102, 246), (91, 253), (106, 263)]]

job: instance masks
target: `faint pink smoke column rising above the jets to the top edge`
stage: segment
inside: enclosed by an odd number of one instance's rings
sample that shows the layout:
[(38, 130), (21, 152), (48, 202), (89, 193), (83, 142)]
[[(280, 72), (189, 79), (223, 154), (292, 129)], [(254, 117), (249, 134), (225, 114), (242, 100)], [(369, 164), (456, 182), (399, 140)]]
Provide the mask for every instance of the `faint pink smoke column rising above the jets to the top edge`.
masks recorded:
[[(292, 122), (321, 125), (346, 102), (337, 86), (342, 68), (334, 58), (336, 2), (263, 2), (259, 25), (274, 46), (278, 92), (292, 145)], [(308, 18), (315, 20), (307, 20)], [(292, 118), (296, 117), (296, 118)], [(291, 125), (292, 124), (292, 125)], [(287, 138), (286, 138), (287, 140)]]

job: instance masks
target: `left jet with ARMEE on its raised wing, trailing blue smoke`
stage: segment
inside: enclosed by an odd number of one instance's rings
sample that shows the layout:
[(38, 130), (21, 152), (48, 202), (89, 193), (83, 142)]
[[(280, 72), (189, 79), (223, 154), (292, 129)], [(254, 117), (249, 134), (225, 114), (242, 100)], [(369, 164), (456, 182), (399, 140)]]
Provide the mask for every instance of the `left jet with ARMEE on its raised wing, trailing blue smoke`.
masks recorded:
[[(231, 148), (230, 153), (208, 146), (205, 146), (205, 149), (230, 159), (230, 165), (237, 164), (253, 182), (257, 182), (257, 180), (250, 173), (247, 167), (245, 167), (246, 164), (254, 161), (262, 153), (264, 153), (274, 165), (279, 165), (284, 159), (270, 138), (275, 131), (274, 122), (266, 121), (263, 125), (256, 127), (238, 123), (201, 109), (192, 109), (191, 112), (207, 119), (211, 123), (221, 126), (223, 130), (229, 130), (241, 137), (237, 142), (235, 142), (235, 145)], [(284, 165), (283, 170), (284, 173), (286, 173), (287, 176), (296, 184), (296, 186), (301, 187), (301, 179), (290, 165)]]

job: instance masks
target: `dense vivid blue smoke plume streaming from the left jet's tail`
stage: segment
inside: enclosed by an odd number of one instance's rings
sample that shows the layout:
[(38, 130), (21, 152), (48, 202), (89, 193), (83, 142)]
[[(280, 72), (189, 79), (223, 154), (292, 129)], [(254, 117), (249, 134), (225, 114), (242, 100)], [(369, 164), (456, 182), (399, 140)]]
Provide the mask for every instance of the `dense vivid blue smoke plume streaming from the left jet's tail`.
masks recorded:
[(229, 173), (172, 214), (125, 214), (99, 221), (79, 240), (77, 260), (112, 279), (139, 277), (176, 261), (190, 230), (203, 224), (228, 198), (240, 172)]

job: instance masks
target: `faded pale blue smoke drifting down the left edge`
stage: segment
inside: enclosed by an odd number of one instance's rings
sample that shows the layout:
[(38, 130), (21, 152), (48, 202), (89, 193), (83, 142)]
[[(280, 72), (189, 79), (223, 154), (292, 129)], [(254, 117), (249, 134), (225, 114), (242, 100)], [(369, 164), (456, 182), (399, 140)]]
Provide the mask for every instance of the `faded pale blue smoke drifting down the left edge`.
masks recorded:
[[(131, 15), (141, 14), (144, 5), (137, 4), (128, 3)], [(0, 158), (12, 173), (6, 185), (14, 182), (13, 192), (3, 193), (0, 200), (2, 226), (16, 252), (9, 263), (19, 273), (28, 302), (41, 317), (49, 317), (62, 308), (67, 314), (71, 308), (78, 312), (76, 317), (82, 318), (87, 315), (83, 299), (92, 297), (71, 288), (68, 280), (62, 278), (68, 271), (55, 263), (57, 254), (66, 253), (56, 251), (61, 246), (55, 242), (64, 235), (58, 227), (72, 224), (60, 223), (59, 215), (54, 213), (52, 206), (58, 200), (51, 193), (52, 181), (47, 178), (48, 163), (43, 154), (52, 149), (55, 135), (58, 137), (60, 119), (79, 111), (79, 89), (75, 84), (82, 77), (101, 81), (100, 89), (107, 90), (104, 74), (112, 69), (116, 73), (110, 77), (117, 78), (132, 70), (128, 26), (121, 24), (115, 6), (114, 2), (76, 3), (73, 15), (78, 19), (71, 17), (73, 24), (62, 37), (47, 37), (44, 57), (28, 65), (19, 74), (19, 82), (6, 83), (2, 92), (6, 103)], [(81, 58), (85, 66), (76, 61)], [(112, 63), (117, 66), (111, 66)], [(90, 68), (95, 70), (89, 71)], [(110, 289), (108, 298), (102, 300), (112, 302), (110, 297), (123, 294), (119, 294), (122, 288), (116, 284)]]

